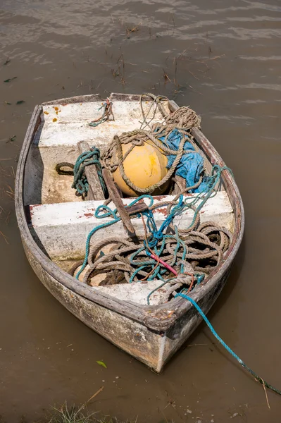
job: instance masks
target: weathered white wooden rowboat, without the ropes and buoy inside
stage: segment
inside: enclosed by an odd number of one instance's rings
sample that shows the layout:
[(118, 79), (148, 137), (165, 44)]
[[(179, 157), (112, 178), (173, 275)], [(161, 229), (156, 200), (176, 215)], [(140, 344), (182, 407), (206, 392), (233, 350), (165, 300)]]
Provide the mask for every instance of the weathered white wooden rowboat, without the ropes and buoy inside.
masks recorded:
[[(115, 121), (96, 128), (89, 127), (89, 121), (99, 117), (99, 95), (60, 99), (35, 107), (18, 161), (15, 211), (27, 259), (50, 293), (108, 341), (161, 372), (201, 321), (192, 304), (183, 298), (161, 304), (158, 293), (147, 305), (146, 297), (159, 281), (88, 286), (66, 271), (85, 255), (87, 234), (100, 223), (94, 210), (102, 202), (75, 197), (69, 176), (58, 175), (56, 164), (75, 162), (79, 155), (77, 142), (88, 140), (102, 147), (115, 133), (139, 127), (141, 120), (138, 95), (111, 94), (109, 98)], [(166, 107), (167, 111), (175, 111), (177, 105), (167, 101)], [(225, 166), (201, 130), (192, 128), (192, 135), (207, 166)], [(216, 269), (189, 294), (205, 314), (225, 285), (244, 231), (243, 204), (232, 173), (224, 171), (221, 180), (220, 190), (206, 202), (201, 216), (225, 226), (232, 232), (232, 241)], [(123, 199), (124, 204), (129, 200)], [(156, 223), (163, 219), (161, 212), (155, 214)], [(134, 223), (136, 231), (141, 228), (138, 220)], [(190, 220), (187, 212), (183, 224)], [(125, 236), (122, 223), (116, 225), (114, 231)]]

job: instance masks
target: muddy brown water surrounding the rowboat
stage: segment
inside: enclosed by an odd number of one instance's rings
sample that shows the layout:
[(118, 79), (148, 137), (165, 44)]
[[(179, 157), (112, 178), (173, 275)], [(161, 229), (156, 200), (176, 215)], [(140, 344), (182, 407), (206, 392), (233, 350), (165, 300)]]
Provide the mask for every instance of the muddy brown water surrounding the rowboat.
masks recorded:
[(149, 91), (191, 105), (234, 171), (246, 212), (242, 247), (209, 317), (281, 388), (280, 1), (2, 0), (0, 36), (3, 421), (33, 422), (49, 405), (79, 405), (104, 386), (89, 410), (120, 419), (280, 422), (281, 397), (268, 392), (268, 410), (263, 387), (204, 324), (157, 376), (75, 319), (27, 263), (8, 188), (35, 104)]

